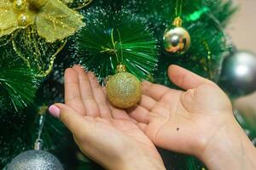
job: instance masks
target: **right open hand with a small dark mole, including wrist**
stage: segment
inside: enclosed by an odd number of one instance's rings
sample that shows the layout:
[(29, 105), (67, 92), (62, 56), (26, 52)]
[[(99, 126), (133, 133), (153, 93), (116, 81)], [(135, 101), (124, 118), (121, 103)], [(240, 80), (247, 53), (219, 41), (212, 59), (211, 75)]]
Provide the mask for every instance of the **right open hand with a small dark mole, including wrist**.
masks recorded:
[(168, 73), (185, 91), (143, 82), (140, 104), (128, 111), (148, 138), (167, 150), (197, 156), (210, 169), (250, 169), (255, 149), (224, 92), (176, 65)]

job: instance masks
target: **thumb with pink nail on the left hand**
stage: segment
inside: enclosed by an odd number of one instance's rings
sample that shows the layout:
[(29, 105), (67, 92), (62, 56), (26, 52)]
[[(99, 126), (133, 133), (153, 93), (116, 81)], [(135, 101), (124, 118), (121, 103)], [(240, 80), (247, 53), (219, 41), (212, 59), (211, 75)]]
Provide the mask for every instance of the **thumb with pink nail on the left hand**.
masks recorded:
[(49, 106), (49, 113), (56, 118), (59, 118), (61, 122), (74, 134), (81, 134), (81, 125), (84, 124), (84, 119), (73, 108), (64, 104), (55, 104)]

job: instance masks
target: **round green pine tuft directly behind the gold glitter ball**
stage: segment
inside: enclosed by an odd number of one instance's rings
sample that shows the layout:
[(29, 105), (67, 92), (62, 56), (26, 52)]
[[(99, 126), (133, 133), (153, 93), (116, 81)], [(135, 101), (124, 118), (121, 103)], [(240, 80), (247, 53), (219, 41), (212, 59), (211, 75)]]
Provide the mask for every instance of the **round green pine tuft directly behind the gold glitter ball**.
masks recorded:
[(90, 8), (84, 13), (86, 26), (79, 32), (79, 60), (101, 81), (123, 63), (140, 79), (148, 79), (157, 66), (157, 41), (145, 20), (122, 9)]

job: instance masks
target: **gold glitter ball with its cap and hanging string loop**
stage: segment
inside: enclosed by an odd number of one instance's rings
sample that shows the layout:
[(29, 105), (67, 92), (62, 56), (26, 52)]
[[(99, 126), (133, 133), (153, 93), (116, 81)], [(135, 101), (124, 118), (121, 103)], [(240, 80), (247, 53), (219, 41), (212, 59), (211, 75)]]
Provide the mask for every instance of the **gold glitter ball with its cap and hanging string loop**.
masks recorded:
[[(117, 29), (119, 36), (119, 50), (116, 47), (117, 42), (114, 41), (113, 29), (111, 30), (111, 41), (113, 45), (113, 53), (117, 59), (116, 74), (108, 78), (107, 95), (108, 100), (118, 108), (130, 108), (140, 101), (142, 96), (142, 85), (137, 77), (126, 71), (123, 64), (124, 54), (122, 48), (121, 34)], [(119, 59), (120, 57), (120, 59)]]

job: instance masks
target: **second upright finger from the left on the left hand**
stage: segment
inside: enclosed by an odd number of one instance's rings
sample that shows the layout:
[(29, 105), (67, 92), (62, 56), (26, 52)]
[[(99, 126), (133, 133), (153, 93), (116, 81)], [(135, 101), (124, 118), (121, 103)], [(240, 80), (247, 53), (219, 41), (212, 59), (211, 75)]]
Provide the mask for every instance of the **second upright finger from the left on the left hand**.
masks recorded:
[(73, 66), (73, 69), (79, 75), (79, 86), (80, 86), (80, 94), (82, 101), (84, 103), (86, 116), (100, 116), (99, 108), (96, 105), (96, 101), (94, 99), (92, 88), (90, 86), (90, 80), (87, 74), (84, 72), (84, 69), (81, 68), (80, 65)]

